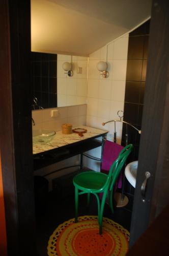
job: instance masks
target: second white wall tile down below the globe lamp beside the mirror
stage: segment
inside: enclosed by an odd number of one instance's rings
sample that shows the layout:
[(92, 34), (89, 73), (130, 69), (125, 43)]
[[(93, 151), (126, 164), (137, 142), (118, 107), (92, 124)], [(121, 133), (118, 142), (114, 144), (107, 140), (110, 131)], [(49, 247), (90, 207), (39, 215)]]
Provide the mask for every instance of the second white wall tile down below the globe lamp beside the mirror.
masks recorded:
[(110, 115), (110, 100), (98, 100), (98, 117), (108, 119)]

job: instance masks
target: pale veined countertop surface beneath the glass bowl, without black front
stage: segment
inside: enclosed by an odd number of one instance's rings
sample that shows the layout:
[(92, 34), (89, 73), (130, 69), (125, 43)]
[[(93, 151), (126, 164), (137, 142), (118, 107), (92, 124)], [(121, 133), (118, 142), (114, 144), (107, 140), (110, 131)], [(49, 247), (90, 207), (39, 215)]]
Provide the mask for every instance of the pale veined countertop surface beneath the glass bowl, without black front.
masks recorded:
[(78, 127), (74, 127), (74, 128), (83, 128), (87, 130), (87, 133), (83, 134), (83, 137), (80, 137), (78, 134), (76, 133), (72, 133), (72, 134), (62, 134), (62, 131), (56, 132), (53, 140), (51, 142), (48, 142), (46, 144), (33, 144), (33, 154), (38, 154), (38, 153), (42, 153), (48, 150), (52, 150), (54, 148), (58, 148), (58, 147), (62, 147), (71, 143), (75, 143), (78, 141), (82, 141), (85, 139), (89, 139), (95, 136), (99, 135), (103, 135), (105, 133), (108, 133), (108, 131), (105, 130), (100, 130), (100, 129), (96, 129), (93, 127), (89, 127), (89, 126), (84, 126), (84, 125), (80, 125)]

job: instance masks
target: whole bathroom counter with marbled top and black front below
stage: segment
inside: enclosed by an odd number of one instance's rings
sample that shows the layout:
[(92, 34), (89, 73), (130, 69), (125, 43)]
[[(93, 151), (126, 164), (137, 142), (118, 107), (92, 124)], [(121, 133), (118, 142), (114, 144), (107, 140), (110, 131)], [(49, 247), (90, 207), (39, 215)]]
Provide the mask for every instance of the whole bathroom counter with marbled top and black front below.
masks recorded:
[(56, 132), (51, 142), (46, 144), (33, 144), (34, 170), (44, 166), (65, 160), (102, 145), (98, 137), (104, 137), (108, 131), (96, 129), (89, 126), (79, 125), (74, 128), (87, 130), (80, 137), (77, 133), (62, 134)]

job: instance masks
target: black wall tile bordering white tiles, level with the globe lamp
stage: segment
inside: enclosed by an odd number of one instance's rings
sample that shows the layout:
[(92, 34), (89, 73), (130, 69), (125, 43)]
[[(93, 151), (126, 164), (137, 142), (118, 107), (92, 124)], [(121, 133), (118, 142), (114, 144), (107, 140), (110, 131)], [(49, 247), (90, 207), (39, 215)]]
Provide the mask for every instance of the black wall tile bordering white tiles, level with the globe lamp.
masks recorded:
[(141, 59), (129, 59), (127, 61), (126, 80), (141, 81), (141, 79), (142, 79), (142, 66), (143, 66), (143, 60), (141, 60)]

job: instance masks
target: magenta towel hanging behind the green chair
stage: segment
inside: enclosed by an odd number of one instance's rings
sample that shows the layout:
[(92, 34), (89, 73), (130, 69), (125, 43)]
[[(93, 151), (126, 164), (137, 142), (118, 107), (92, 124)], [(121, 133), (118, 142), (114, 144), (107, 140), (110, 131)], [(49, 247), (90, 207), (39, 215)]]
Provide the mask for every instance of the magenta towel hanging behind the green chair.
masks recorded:
[[(123, 150), (123, 146), (106, 140), (104, 143), (104, 150), (103, 150), (103, 158), (102, 158), (102, 165), (101, 169), (105, 172), (109, 172), (111, 164), (115, 162), (118, 158), (120, 152)], [(120, 179), (118, 182), (118, 188), (122, 187), (122, 175), (120, 175)]]

